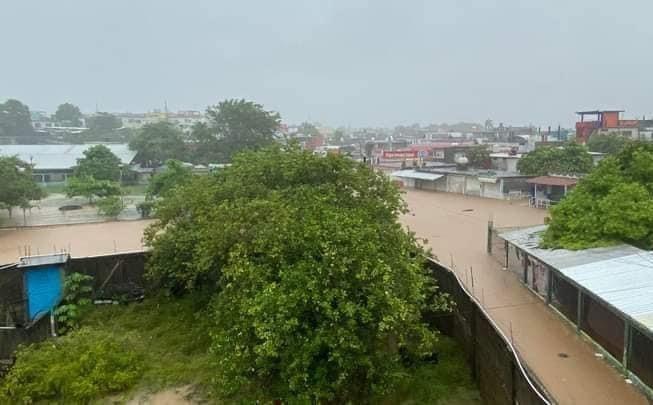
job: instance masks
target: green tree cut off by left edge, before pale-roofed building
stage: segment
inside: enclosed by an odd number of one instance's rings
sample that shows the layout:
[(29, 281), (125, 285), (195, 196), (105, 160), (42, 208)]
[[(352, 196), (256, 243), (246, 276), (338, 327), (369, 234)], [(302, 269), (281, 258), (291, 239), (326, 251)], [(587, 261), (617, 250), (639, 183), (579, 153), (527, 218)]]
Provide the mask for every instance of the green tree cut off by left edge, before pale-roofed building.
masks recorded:
[(0, 209), (28, 208), (45, 192), (32, 178), (32, 167), (17, 157), (0, 157)]

